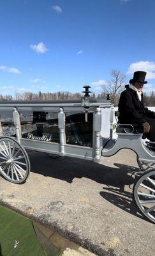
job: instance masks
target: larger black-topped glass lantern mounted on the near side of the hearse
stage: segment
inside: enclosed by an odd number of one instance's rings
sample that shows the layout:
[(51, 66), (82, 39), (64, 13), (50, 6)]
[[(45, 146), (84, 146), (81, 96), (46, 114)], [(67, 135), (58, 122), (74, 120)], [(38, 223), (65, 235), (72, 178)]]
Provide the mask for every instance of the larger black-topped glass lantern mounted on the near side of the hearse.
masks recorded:
[(87, 114), (88, 114), (89, 108), (92, 106), (92, 97), (90, 97), (89, 95), (89, 93), (91, 93), (91, 91), (89, 91), (89, 88), (91, 88), (91, 86), (85, 85), (83, 86), (83, 88), (85, 88), (85, 91), (83, 92), (85, 93), (85, 95), (81, 99), (81, 106), (84, 107), (85, 109), (85, 122), (87, 122), (88, 121)]

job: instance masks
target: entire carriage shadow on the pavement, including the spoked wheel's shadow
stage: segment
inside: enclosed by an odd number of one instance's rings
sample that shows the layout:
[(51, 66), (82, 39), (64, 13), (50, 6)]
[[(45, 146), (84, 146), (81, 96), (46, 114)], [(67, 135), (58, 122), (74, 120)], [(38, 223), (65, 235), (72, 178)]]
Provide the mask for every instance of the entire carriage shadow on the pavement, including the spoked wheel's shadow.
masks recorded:
[[(134, 173), (139, 172), (139, 168), (118, 163), (114, 164), (115, 167), (109, 167), (71, 157), (54, 159), (42, 152), (30, 152), (29, 158), (31, 172), (45, 177), (53, 177), (69, 183), (75, 178), (81, 179), (85, 177), (105, 185), (103, 186), (103, 191), (100, 192), (100, 195), (105, 200), (145, 220), (139, 213), (132, 195), (132, 188), (135, 182)], [(128, 189), (125, 189), (125, 186)]]

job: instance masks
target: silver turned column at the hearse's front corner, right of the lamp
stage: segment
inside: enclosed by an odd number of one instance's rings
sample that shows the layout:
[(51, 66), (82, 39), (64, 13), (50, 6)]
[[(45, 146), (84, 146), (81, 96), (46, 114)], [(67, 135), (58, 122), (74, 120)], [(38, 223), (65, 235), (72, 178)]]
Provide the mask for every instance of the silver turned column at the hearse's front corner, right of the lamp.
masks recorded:
[(101, 108), (96, 108), (96, 113), (94, 113), (94, 162), (96, 163), (98, 163), (101, 158), (100, 138), (101, 138)]

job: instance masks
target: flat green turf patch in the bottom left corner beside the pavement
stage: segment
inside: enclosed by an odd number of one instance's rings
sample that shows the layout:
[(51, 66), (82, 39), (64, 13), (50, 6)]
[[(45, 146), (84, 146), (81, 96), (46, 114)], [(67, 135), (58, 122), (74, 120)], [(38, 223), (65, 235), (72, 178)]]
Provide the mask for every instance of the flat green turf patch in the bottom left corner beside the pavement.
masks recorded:
[[(34, 231), (33, 222), (0, 205), (0, 255), (45, 256)], [(58, 254), (57, 254), (58, 255)]]

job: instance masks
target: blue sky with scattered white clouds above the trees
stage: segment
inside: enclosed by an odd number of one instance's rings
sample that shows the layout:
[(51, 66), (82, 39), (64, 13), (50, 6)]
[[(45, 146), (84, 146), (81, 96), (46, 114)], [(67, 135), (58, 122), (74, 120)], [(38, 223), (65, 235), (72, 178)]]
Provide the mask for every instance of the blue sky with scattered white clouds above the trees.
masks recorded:
[(154, 0), (1, 0), (0, 93), (93, 92), (112, 69), (155, 90)]

